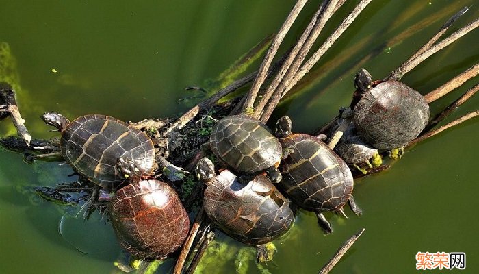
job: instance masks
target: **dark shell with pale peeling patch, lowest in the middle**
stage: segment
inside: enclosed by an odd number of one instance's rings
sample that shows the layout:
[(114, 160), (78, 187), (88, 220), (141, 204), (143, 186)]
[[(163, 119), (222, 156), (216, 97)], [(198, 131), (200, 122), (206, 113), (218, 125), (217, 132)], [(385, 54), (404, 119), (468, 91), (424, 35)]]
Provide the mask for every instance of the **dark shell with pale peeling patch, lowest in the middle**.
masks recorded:
[(288, 200), (265, 175), (242, 184), (230, 171), (222, 171), (205, 189), (203, 207), (226, 234), (247, 245), (270, 242), (294, 222)]

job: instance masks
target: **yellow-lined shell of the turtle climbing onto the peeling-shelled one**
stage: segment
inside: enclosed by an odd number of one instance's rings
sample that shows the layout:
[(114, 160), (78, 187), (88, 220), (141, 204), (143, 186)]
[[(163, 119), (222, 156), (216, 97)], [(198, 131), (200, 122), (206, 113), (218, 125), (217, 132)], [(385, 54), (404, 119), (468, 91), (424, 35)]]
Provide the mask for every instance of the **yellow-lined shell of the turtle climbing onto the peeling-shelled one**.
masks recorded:
[(281, 160), (281, 145), (268, 127), (247, 115), (226, 116), (211, 131), (211, 150), (233, 170), (256, 173)]

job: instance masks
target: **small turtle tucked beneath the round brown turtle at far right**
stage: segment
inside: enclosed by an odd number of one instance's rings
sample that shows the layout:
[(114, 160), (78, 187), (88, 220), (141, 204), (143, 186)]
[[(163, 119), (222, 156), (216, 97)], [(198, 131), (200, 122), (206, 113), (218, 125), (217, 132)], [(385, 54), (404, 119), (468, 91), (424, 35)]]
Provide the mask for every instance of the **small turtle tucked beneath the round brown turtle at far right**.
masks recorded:
[(350, 119), (338, 119), (337, 123), (331, 127), (331, 136), (341, 123), (348, 123), (348, 125), (334, 148), (337, 155), (362, 173), (367, 173), (367, 171), (360, 166), (361, 164), (366, 164), (370, 169), (380, 166), (383, 160), (378, 153), (378, 149), (374, 149), (357, 134), (356, 127)]

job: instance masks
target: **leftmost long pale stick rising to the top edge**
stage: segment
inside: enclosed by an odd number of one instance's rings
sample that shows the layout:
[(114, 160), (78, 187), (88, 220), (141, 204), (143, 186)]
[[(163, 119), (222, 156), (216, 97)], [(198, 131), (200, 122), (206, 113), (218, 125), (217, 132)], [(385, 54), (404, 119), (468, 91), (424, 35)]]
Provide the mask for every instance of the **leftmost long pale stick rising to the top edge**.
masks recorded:
[(266, 75), (268, 74), (268, 69), (274, 58), (274, 55), (276, 55), (276, 52), (278, 52), (279, 46), (281, 45), (281, 42), (283, 42), (283, 38), (285, 38), (287, 32), (289, 31), (289, 28), (291, 28), (294, 21), (298, 17), (298, 14), (306, 3), (307, 0), (298, 0), (298, 2), (296, 2), (296, 5), (294, 5), (292, 11), (289, 12), (289, 15), (287, 16), (285, 22), (279, 29), (278, 34), (276, 34), (276, 36), (274, 37), (270, 49), (268, 49), (268, 53), (266, 53), (263, 63), (261, 63), (261, 67), (259, 68), (259, 73), (255, 79), (255, 82), (253, 83), (253, 86), (251, 86), (250, 92), (246, 97), (246, 101), (244, 103), (246, 109), (253, 108), (253, 103), (255, 103), (259, 88), (266, 79)]

